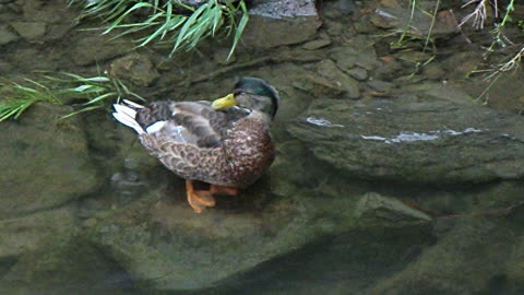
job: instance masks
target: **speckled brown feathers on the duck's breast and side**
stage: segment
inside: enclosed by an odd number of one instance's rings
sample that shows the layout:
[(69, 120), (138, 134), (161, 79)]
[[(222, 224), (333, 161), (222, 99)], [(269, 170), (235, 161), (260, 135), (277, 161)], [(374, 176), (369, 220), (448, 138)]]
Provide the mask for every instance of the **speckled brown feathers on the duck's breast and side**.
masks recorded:
[[(156, 105), (155, 107), (165, 108), (166, 106)], [(190, 106), (180, 105), (180, 103), (168, 107), (183, 110), (179, 117), (176, 115), (170, 118), (181, 126), (191, 126), (193, 122), (190, 114), (199, 109), (198, 107), (189, 109)], [(138, 119), (140, 123), (153, 123), (153, 116), (157, 116), (159, 120), (166, 120), (166, 117), (163, 117), (165, 111), (158, 109), (141, 109), (138, 115), (140, 115), (140, 121)], [(167, 168), (184, 179), (245, 188), (254, 182), (270, 167), (274, 160), (274, 146), (270, 130), (261, 119), (246, 117), (228, 125), (225, 121), (230, 121), (231, 117), (238, 117), (239, 114), (215, 111), (206, 107), (201, 108), (199, 116), (209, 119), (214, 126), (213, 130), (224, 137), (215, 137), (217, 142), (213, 144), (202, 144), (200, 140), (198, 144), (188, 144), (162, 134), (144, 133), (140, 135), (140, 141)], [(192, 130), (201, 137), (210, 132), (195, 128)]]

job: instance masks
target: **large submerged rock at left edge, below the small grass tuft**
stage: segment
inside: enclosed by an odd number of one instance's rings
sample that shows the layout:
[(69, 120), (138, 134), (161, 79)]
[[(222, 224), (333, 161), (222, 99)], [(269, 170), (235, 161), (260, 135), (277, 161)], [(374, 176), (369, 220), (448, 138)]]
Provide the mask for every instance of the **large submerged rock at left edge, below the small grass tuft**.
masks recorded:
[(72, 108), (37, 104), (20, 120), (0, 123), (0, 219), (59, 206), (99, 182)]

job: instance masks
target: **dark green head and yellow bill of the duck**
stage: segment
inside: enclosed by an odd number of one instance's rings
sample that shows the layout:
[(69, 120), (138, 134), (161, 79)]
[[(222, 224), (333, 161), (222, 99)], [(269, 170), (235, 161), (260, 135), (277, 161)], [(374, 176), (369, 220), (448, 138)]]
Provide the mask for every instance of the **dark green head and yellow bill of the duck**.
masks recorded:
[(245, 76), (235, 85), (233, 93), (213, 102), (213, 108), (239, 106), (266, 114), (271, 119), (278, 109), (276, 90), (260, 78)]

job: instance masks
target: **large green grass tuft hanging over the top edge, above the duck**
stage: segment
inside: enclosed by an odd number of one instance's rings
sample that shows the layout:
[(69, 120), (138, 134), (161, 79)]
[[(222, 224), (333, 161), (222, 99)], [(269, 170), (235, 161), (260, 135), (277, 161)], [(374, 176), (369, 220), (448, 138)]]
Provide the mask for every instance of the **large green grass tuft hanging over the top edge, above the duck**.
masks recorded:
[[(235, 32), (229, 59), (249, 20), (243, 0), (207, 0), (199, 7), (180, 0), (69, 0), (69, 4), (82, 7), (79, 20), (97, 17), (107, 23), (98, 28), (102, 34), (118, 32), (114, 38), (142, 34), (134, 38), (138, 47), (169, 44), (169, 57), (177, 50), (194, 48), (205, 37), (216, 37), (219, 32), (226, 36)], [(239, 12), (242, 16), (237, 23)]]

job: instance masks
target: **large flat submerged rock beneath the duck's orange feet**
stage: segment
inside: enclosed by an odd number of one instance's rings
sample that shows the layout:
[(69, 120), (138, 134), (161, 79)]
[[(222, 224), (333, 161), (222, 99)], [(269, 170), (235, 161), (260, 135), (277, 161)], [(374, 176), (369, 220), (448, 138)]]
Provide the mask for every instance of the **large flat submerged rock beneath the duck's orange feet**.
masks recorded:
[(202, 214), (182, 191), (147, 194), (98, 221), (86, 237), (147, 287), (200, 290), (355, 224), (354, 198), (275, 200), (257, 187), (217, 199)]

